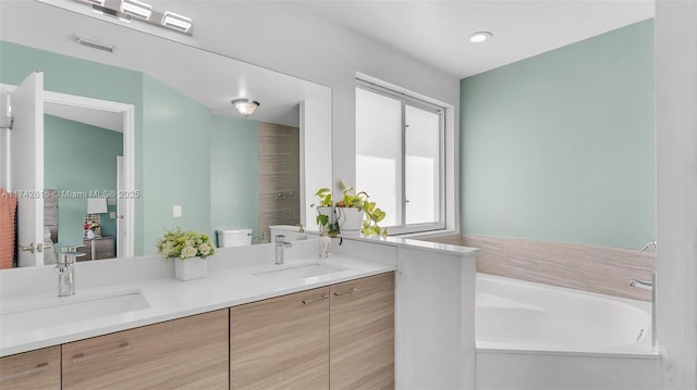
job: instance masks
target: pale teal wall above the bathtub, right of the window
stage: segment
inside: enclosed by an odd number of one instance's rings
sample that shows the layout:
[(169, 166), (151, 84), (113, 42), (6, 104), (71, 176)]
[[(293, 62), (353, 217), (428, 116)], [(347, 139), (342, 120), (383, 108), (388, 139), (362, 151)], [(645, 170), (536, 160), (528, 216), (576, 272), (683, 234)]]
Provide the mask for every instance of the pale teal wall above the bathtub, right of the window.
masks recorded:
[(656, 238), (653, 21), (461, 80), (464, 234)]

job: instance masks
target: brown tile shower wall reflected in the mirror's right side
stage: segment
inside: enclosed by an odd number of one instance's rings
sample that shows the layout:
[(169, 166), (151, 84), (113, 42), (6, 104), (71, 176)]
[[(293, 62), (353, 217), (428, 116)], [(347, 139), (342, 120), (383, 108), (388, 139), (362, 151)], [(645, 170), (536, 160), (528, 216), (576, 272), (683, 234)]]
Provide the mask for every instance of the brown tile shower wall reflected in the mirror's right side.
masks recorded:
[[(259, 123), (259, 229), (295, 225), (301, 215), (301, 152), (297, 127)], [(282, 193), (281, 197), (278, 194)]]

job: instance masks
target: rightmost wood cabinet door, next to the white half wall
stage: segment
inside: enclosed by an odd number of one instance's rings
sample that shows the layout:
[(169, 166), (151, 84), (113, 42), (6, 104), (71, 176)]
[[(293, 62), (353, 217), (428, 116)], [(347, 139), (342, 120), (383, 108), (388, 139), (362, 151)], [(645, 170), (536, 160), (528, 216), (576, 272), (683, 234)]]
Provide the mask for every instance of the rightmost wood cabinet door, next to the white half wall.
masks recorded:
[(331, 286), (331, 389), (394, 388), (394, 273)]

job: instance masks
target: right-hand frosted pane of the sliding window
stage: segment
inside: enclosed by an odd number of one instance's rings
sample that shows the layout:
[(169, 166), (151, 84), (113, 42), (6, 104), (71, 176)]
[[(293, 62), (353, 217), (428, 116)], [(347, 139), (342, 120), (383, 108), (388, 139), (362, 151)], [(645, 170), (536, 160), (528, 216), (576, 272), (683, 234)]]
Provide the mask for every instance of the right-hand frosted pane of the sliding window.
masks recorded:
[(405, 223), (439, 219), (440, 115), (411, 105), (405, 111)]

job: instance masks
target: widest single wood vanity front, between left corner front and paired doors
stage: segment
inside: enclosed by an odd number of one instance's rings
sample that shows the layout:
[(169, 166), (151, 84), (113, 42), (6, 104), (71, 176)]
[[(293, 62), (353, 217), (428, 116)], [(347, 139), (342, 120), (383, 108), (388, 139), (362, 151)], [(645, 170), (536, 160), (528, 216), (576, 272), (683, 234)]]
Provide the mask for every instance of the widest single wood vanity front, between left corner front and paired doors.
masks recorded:
[(63, 344), (63, 389), (228, 389), (228, 312)]

